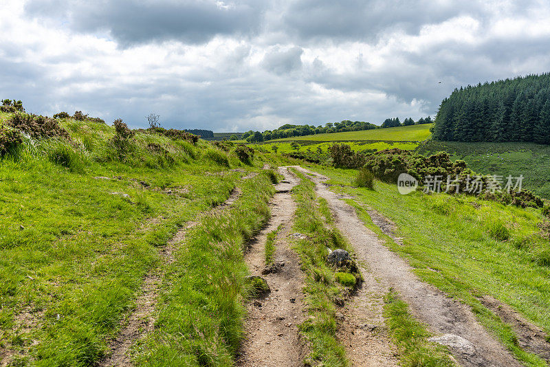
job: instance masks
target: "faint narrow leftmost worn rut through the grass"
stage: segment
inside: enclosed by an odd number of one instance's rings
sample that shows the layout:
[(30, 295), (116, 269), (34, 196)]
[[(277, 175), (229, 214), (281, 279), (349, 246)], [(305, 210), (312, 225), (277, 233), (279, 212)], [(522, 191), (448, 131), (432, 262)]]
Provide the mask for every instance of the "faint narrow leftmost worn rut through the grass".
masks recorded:
[[(256, 175), (247, 175), (243, 177), (243, 179), (249, 179)], [(228, 208), (239, 199), (241, 193), (241, 189), (234, 188), (230, 192), (228, 199), (202, 215), (212, 215), (221, 212), (221, 210)], [(166, 243), (166, 246), (160, 249), (159, 253), (162, 258), (162, 263), (173, 263), (175, 260), (173, 256), (175, 249), (177, 249), (181, 243), (184, 243), (188, 230), (195, 225), (197, 225), (197, 221), (187, 222), (186, 225), (181, 227), (175, 236)], [(132, 364), (130, 353), (131, 346), (135, 340), (153, 331), (153, 325), (155, 324), (154, 311), (161, 279), (162, 271), (159, 268), (153, 269), (145, 276), (141, 289), (142, 293), (140, 293), (135, 300), (135, 309), (133, 309), (132, 313), (130, 313), (127, 318), (122, 320), (121, 324), (124, 326), (122, 326), (120, 333), (109, 345), (111, 353), (98, 362), (96, 366), (112, 367), (130, 366)]]

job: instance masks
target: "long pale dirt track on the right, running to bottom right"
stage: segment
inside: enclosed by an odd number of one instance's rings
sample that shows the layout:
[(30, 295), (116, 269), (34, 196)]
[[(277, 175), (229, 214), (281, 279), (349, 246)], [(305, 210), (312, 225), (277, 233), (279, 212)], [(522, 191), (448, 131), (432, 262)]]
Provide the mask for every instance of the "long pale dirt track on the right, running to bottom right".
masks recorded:
[[(360, 262), (380, 280), (380, 285), (386, 291), (393, 287), (409, 305), (412, 314), (427, 324), (432, 333), (448, 334), (451, 340), (453, 335), (457, 335), (471, 343), (468, 348), (461, 348), (463, 344), (459, 343), (450, 345), (450, 351), (462, 366), (520, 366), (509, 351), (477, 322), (470, 307), (422, 282), (405, 260), (385, 247), (376, 234), (363, 225), (351, 206), (322, 185), (326, 177), (315, 175), (312, 179), (318, 195), (328, 201), (336, 226), (352, 243)], [(474, 348), (470, 347), (472, 345)]]

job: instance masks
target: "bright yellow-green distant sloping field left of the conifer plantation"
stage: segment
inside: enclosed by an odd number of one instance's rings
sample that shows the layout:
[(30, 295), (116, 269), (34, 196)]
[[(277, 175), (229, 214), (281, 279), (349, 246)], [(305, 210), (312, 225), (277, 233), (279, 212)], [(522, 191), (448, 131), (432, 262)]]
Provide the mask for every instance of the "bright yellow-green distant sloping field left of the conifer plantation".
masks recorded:
[(336, 141), (395, 141), (395, 142), (421, 142), (430, 137), (430, 128), (433, 124), (422, 124), (412, 126), (390, 127), (386, 129), (373, 129), (362, 131), (345, 131), (342, 133), (329, 133), (307, 135), (300, 137), (285, 137), (283, 139), (273, 140), (273, 142), (285, 141), (316, 141), (316, 142), (336, 142)]

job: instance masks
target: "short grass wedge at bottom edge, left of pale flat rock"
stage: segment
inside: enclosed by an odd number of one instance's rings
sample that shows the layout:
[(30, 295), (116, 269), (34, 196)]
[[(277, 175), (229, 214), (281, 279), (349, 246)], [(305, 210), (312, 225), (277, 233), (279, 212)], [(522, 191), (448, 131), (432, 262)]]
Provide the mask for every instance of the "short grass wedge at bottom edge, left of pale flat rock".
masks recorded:
[(399, 359), (404, 367), (456, 366), (448, 351), (427, 341), (432, 336), (426, 326), (415, 320), (405, 302), (395, 291), (384, 297), (384, 317), (392, 339), (399, 348)]

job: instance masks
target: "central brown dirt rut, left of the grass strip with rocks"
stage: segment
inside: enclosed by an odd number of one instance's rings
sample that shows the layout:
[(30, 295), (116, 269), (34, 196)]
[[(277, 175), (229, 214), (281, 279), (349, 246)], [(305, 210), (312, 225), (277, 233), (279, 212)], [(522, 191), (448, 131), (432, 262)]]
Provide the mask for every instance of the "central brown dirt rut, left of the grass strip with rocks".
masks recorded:
[[(250, 300), (247, 304), (248, 319), (245, 325), (245, 340), (239, 351), (237, 366), (296, 367), (303, 365), (305, 348), (300, 340), (298, 324), (303, 322), (304, 275), (298, 256), (289, 247), (288, 237), (292, 230), (292, 217), (296, 203), (289, 194), (298, 180), (281, 168), (285, 182), (276, 186), (272, 216), (267, 226), (251, 241), (245, 260), (254, 275), (262, 275), (271, 288), (264, 298)], [(267, 234), (279, 230), (275, 245), (275, 265), (265, 269), (265, 241)]]

